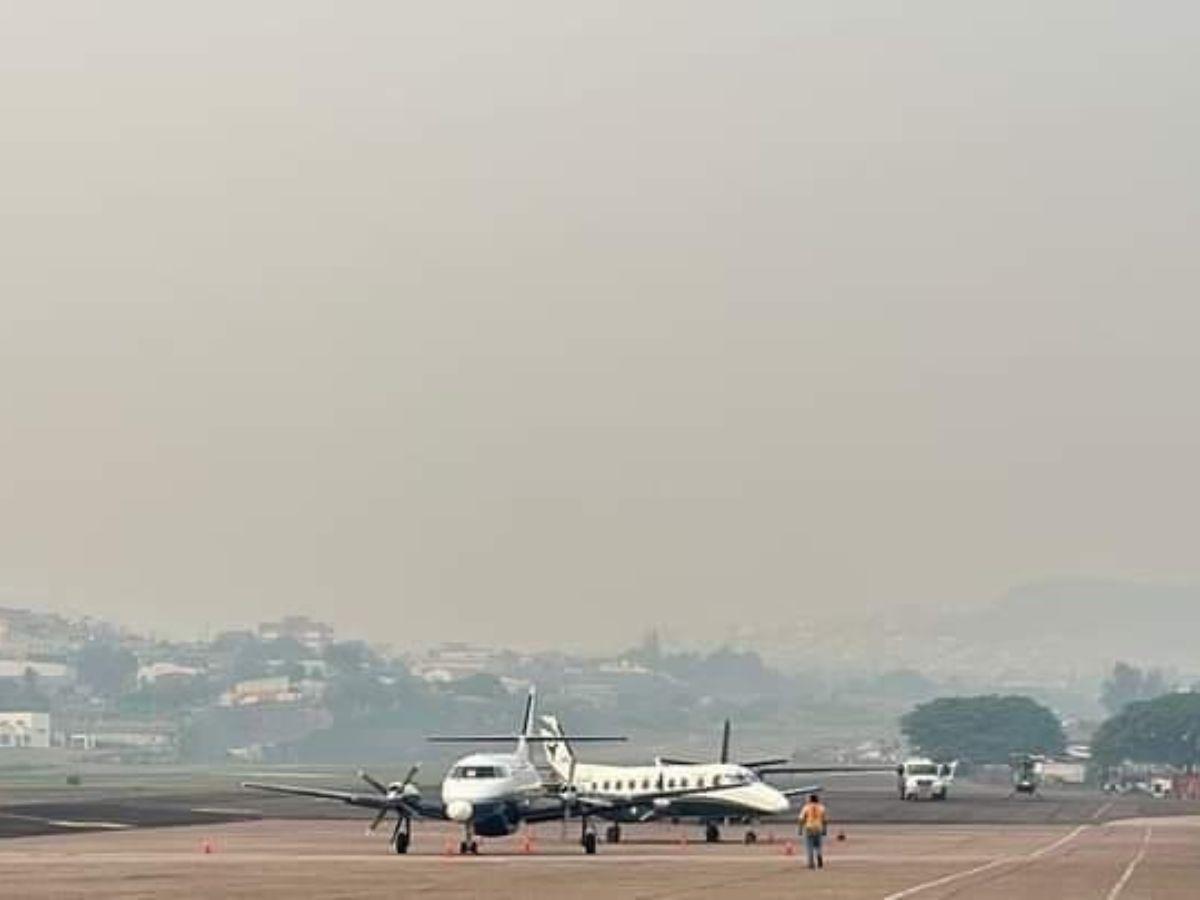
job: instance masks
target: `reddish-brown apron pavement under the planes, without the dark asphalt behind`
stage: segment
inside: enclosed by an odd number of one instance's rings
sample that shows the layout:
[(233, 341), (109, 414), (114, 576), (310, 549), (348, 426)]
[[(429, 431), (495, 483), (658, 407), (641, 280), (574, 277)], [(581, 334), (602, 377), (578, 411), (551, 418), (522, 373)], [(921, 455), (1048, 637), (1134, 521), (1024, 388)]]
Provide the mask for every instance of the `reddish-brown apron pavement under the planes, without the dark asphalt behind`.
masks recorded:
[[(683, 841), (670, 826), (626, 829), (583, 856), (558, 826), (487, 841), (460, 857), (457, 830), (419, 826), (413, 852), (388, 852), (361, 822), (260, 820), (25, 838), (0, 844), (0, 895), (23, 898), (1195, 898), (1200, 820), (1103, 824), (858, 826), (810, 871), (774, 842)], [(455, 851), (455, 852), (450, 852)]]

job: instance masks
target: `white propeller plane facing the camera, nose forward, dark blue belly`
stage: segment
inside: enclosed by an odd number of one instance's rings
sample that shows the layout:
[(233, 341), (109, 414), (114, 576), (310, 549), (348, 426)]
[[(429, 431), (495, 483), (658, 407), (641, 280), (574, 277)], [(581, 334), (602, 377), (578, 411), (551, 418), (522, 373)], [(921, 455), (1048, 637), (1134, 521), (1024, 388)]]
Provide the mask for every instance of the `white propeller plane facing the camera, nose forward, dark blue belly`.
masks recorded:
[[(524, 823), (560, 821), (565, 829), (566, 821), (578, 818), (581, 822), (580, 844), (584, 853), (596, 852), (596, 833), (593, 817), (601, 811), (605, 815), (618, 815), (629, 805), (619, 797), (595, 796), (580, 790), (574, 770), (568, 773), (560, 785), (547, 785), (529, 758), (529, 744), (541, 743), (545, 738), (534, 734), (535, 691), (529, 690), (526, 700), (521, 728), (516, 734), (475, 734), (475, 736), (434, 736), (428, 738), (434, 743), (497, 743), (516, 742), (512, 752), (475, 752), (455, 761), (442, 781), (442, 800), (428, 802), (421, 797), (413, 779), (419, 766), (409, 768), (400, 781), (384, 785), (366, 772), (359, 772), (372, 793), (354, 791), (330, 791), (317, 787), (295, 785), (264, 784), (244, 781), (242, 787), (269, 793), (313, 797), (325, 800), (340, 800), (352, 806), (364, 806), (376, 811), (367, 828), (374, 832), (389, 814), (395, 814), (396, 827), (391, 833), (389, 845), (396, 853), (407, 853), (412, 841), (413, 820), (440, 820), (457, 822), (462, 826), (462, 840), (458, 844), (461, 854), (478, 854), (476, 838), (499, 838), (514, 834)], [(560, 742), (565, 736), (554, 738)], [(577, 743), (619, 742), (623, 737), (572, 736)], [(652, 792), (650, 802), (670, 800), (686, 797), (691, 790)], [(641, 803), (637, 800), (636, 803)]]

